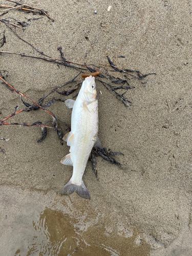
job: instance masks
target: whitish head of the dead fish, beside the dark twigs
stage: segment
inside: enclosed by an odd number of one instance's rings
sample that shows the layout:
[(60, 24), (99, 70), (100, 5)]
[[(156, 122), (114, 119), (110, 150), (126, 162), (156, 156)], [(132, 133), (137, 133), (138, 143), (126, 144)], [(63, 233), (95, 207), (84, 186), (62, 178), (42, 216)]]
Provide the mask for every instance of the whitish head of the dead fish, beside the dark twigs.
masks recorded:
[(83, 100), (85, 100), (87, 103), (90, 103), (92, 101), (96, 100), (97, 96), (97, 90), (96, 90), (96, 83), (95, 83), (95, 77), (89, 76), (84, 79), (81, 87), (81, 96)]

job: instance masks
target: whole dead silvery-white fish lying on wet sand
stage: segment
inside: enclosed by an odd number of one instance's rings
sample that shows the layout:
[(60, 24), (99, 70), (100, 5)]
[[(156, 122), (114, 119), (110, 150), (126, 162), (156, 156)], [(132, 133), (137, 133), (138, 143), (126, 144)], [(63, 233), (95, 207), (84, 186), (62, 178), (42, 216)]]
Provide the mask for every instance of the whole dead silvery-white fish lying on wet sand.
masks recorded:
[(86, 77), (76, 100), (65, 101), (68, 108), (73, 108), (71, 132), (64, 136), (70, 153), (61, 159), (61, 163), (73, 166), (70, 181), (62, 188), (61, 195), (76, 194), (84, 199), (91, 199), (89, 190), (84, 185), (82, 176), (93, 146), (102, 148), (98, 138), (98, 100), (95, 77)]

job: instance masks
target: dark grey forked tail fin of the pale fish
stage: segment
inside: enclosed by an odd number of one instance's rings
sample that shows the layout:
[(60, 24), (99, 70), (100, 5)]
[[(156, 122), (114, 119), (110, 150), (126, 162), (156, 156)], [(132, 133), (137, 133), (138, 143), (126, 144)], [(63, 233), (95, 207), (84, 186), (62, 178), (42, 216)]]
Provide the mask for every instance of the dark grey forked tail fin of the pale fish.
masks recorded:
[(61, 190), (61, 195), (71, 195), (73, 192), (76, 192), (79, 197), (85, 198), (85, 199), (91, 199), (91, 196), (89, 194), (89, 191), (87, 187), (84, 185), (83, 181), (81, 185), (75, 185), (70, 180)]

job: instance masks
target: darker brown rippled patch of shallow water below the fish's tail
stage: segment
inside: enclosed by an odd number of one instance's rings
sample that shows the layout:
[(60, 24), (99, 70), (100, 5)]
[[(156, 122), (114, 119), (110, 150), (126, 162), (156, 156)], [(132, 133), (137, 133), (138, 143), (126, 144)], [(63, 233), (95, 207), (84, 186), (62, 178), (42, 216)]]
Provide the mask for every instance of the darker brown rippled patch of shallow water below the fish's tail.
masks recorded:
[(74, 229), (67, 215), (50, 208), (41, 212), (39, 218), (30, 220), (29, 230), (29, 234), (23, 236), (15, 245), (17, 249), (15, 256), (73, 255), (74, 253), (90, 255), (93, 252), (98, 255), (111, 255), (102, 247), (87, 243), (82, 234)]

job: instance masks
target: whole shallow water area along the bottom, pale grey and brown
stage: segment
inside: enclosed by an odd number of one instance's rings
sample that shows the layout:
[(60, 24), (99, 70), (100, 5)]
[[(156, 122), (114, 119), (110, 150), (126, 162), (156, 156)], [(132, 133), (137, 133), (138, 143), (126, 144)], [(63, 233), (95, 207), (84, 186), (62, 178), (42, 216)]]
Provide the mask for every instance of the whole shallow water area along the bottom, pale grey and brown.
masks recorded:
[[(1, 190), (1, 255), (148, 255), (148, 246), (142, 239), (138, 242), (136, 230), (126, 237), (118, 236), (106, 232), (100, 222), (82, 231), (76, 218), (50, 208), (51, 195), (13, 188), (7, 191), (5, 187)], [(55, 205), (61, 207), (58, 201)]]

